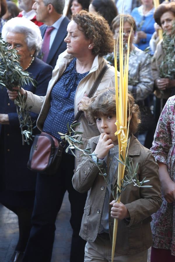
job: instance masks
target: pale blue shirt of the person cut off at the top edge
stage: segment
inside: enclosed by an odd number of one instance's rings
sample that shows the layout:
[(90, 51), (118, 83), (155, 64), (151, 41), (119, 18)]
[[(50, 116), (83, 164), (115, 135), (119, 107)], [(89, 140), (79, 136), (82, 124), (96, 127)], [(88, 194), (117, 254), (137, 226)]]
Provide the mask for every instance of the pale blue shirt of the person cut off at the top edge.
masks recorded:
[[(116, 7), (118, 9), (118, 13), (122, 13), (122, 8), (123, 8), (123, 0), (115, 0), (115, 4)], [(135, 8), (135, 7), (139, 7), (141, 5), (141, 1), (140, 0), (125, 0), (124, 3), (124, 10), (123, 13), (124, 14), (131, 14), (131, 11)]]

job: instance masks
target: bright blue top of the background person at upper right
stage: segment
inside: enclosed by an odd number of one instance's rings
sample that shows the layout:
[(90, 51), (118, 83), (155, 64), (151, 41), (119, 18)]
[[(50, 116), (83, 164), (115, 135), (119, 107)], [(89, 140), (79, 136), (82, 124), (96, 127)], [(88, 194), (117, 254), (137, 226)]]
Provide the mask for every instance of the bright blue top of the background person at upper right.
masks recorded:
[(136, 21), (137, 31), (144, 31), (147, 35), (146, 39), (140, 39), (140, 43), (135, 44), (141, 50), (144, 50), (149, 46), (149, 41), (151, 39), (152, 34), (155, 32), (154, 29), (154, 9), (150, 12), (148, 16), (141, 16), (138, 9), (141, 7), (136, 7), (132, 10), (131, 15), (134, 17)]

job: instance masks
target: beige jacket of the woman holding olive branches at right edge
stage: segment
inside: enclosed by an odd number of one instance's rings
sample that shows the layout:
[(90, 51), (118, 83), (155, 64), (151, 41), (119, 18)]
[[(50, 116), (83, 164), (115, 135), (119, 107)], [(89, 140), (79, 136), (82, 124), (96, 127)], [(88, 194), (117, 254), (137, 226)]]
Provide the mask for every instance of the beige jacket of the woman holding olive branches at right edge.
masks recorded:
[[(160, 40), (159, 43), (157, 44), (154, 56), (152, 58), (152, 63), (151, 63), (151, 69), (152, 69), (152, 72), (153, 72), (154, 82), (157, 78), (160, 77), (159, 65), (164, 59), (162, 41), (163, 40)], [(168, 89), (164, 90), (163, 91), (163, 98), (168, 99), (171, 96), (171, 92), (172, 92), (172, 88), (168, 88)], [(162, 94), (161, 94), (161, 92), (158, 88), (154, 91), (154, 94), (157, 98), (162, 98)]]

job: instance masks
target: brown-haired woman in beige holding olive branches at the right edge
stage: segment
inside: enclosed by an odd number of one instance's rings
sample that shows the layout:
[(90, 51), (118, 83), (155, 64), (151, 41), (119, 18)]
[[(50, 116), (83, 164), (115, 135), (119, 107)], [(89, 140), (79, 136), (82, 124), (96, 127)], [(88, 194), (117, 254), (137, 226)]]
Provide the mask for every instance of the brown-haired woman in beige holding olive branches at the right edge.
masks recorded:
[(163, 39), (157, 44), (152, 61), (153, 78), (156, 88), (155, 120), (157, 122), (167, 99), (175, 94), (174, 63), (170, 65), (171, 61), (174, 61), (175, 55), (174, 42), (172, 41), (175, 35), (174, 29), (172, 30), (175, 19), (175, 3), (160, 4), (155, 10), (154, 18), (164, 32)]

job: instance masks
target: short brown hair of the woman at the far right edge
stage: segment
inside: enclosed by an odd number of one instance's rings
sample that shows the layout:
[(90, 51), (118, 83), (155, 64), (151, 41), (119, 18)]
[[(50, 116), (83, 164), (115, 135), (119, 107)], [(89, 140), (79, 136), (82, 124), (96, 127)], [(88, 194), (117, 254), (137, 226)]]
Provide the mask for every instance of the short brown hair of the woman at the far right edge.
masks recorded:
[(154, 12), (154, 20), (155, 22), (162, 26), (161, 25), (161, 22), (160, 22), (160, 18), (161, 16), (166, 13), (166, 12), (172, 12), (174, 14), (174, 17), (175, 17), (175, 3), (174, 2), (171, 2), (171, 3), (162, 3), (160, 4), (155, 12)]

